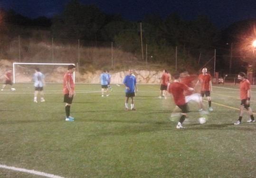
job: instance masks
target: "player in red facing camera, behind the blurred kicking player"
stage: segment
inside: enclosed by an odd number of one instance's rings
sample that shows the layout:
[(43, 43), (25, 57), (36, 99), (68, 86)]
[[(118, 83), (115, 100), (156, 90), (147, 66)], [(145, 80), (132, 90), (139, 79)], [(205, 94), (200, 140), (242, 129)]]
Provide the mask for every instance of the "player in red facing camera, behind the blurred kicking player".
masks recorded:
[(201, 84), (201, 97), (203, 98), (204, 95), (207, 96), (208, 104), (209, 104), (209, 111), (213, 111), (211, 107), (211, 97), (210, 92), (212, 92), (212, 83), (211, 83), (211, 75), (207, 74), (207, 68), (202, 69), (202, 74), (198, 76), (198, 81), (195, 85)]

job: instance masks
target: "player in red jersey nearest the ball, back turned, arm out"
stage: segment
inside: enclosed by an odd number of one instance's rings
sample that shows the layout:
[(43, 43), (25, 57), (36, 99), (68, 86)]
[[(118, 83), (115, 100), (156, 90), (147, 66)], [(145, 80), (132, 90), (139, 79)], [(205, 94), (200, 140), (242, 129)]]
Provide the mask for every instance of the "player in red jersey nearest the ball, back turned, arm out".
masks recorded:
[(178, 122), (176, 128), (182, 129), (182, 123), (186, 119), (187, 112), (189, 112), (188, 105), (185, 101), (184, 91), (193, 91), (193, 88), (188, 87), (185, 84), (180, 83), (180, 74), (174, 74), (174, 81), (173, 83), (169, 84), (168, 92), (173, 95), (174, 103), (181, 109), (181, 117), (180, 121)]

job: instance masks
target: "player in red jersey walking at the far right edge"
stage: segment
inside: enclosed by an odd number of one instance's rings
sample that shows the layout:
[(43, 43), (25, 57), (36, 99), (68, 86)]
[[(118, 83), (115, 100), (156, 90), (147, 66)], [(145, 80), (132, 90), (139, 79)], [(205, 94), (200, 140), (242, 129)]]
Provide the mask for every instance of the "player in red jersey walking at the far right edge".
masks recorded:
[(235, 125), (239, 125), (242, 121), (244, 108), (247, 109), (247, 111), (250, 114), (250, 120), (247, 122), (255, 122), (255, 119), (253, 117), (253, 112), (250, 107), (250, 98), (251, 98), (251, 84), (249, 80), (246, 78), (246, 74), (243, 72), (239, 72), (237, 75), (238, 80), (240, 81), (239, 88), (240, 88), (240, 99), (241, 99), (241, 105), (240, 105), (240, 115), (237, 122), (235, 122)]

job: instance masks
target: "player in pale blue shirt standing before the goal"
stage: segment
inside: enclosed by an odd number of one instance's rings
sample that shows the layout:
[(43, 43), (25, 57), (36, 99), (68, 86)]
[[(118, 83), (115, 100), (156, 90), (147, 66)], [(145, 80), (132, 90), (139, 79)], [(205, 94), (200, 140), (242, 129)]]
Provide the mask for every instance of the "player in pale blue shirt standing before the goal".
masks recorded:
[(40, 72), (39, 68), (35, 69), (35, 74), (33, 76), (33, 79), (34, 79), (34, 86), (35, 86), (34, 102), (38, 103), (37, 101), (38, 92), (41, 95), (41, 102), (45, 102), (44, 92), (43, 92), (43, 86), (45, 85), (45, 75), (43, 75)]

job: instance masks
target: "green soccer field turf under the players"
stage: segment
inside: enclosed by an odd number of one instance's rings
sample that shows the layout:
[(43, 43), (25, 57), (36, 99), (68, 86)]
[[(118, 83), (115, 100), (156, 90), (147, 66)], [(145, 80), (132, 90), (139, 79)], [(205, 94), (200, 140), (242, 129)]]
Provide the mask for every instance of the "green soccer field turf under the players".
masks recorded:
[[(138, 85), (136, 111), (124, 110), (124, 86), (76, 84), (65, 121), (62, 85), (47, 84), (45, 103), (33, 103), (33, 84), (0, 92), (0, 165), (63, 178), (255, 178), (256, 122), (235, 126), (238, 85), (214, 85), (213, 112), (199, 124), (196, 104), (176, 129), (171, 96), (158, 99), (159, 85)], [(256, 87), (251, 107), (256, 111)], [(205, 102), (207, 106), (208, 103)], [(129, 105), (130, 107), (130, 105)], [(0, 178), (39, 176), (0, 168)]]

